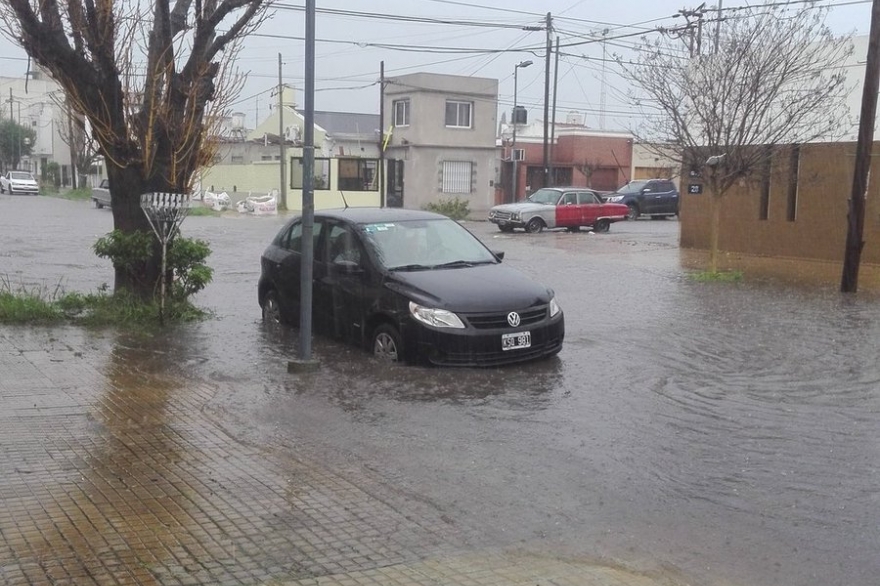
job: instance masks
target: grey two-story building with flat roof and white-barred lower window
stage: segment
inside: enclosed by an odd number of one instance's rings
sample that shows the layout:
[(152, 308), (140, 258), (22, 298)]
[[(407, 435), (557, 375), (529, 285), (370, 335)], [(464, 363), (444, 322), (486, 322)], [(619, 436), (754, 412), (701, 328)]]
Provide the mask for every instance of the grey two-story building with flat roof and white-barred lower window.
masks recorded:
[(485, 215), (495, 204), (498, 174), (498, 80), (433, 73), (388, 78), (383, 108), (391, 127), (389, 205), (422, 208), (459, 198), (475, 217)]

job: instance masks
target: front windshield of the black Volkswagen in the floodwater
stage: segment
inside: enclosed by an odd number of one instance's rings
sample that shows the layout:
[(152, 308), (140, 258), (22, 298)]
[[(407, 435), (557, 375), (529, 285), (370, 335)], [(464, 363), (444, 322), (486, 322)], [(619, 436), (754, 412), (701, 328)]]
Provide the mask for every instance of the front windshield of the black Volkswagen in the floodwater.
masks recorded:
[(366, 224), (362, 229), (379, 261), (390, 270), (498, 262), (473, 234), (448, 218)]

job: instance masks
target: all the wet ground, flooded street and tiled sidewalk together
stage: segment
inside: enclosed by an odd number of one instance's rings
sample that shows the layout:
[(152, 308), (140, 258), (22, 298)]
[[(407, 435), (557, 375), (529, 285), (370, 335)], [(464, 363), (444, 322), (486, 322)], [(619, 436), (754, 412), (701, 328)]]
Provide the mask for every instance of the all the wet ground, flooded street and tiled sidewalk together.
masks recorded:
[[(696, 283), (675, 221), (469, 223), (556, 289), (557, 359), (388, 368), (318, 338), (294, 376), (296, 332), (255, 293), (282, 222), (184, 222), (214, 250), (212, 320), (0, 326), (0, 582), (876, 583), (876, 293)], [(91, 253), (111, 228), (0, 196), (0, 275), (112, 283)]]

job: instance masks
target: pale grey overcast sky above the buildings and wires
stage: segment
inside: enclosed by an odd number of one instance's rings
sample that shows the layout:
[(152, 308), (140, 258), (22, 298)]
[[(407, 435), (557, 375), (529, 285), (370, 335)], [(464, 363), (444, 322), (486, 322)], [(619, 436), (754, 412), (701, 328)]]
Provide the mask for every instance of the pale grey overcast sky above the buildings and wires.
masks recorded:
[[(775, 1), (722, 0), (722, 14), (733, 14), (736, 7)], [(265, 118), (276, 100), (273, 93), (278, 83), (279, 53), (283, 81), (297, 89), (297, 105), (302, 106), (304, 4), (304, 0), (279, 2), (272, 18), (244, 42), (237, 66), (248, 73), (248, 81), (234, 109), (246, 115), (249, 127)], [(509, 112), (515, 65), (531, 60), (530, 67), (518, 70), (517, 102), (528, 108), (530, 119), (542, 118), (546, 33), (524, 27), (542, 26), (550, 12), (561, 45), (595, 41), (563, 50), (557, 119), (564, 120), (566, 113), (577, 111), (590, 126), (624, 130), (632, 126), (635, 111), (627, 103), (626, 84), (610, 60), (615, 53), (625, 54), (642, 35), (650, 38), (659, 34), (658, 28), (682, 25), (685, 20), (679, 11), (694, 9), (699, 2), (317, 0), (316, 4), (318, 110), (378, 113), (379, 69), (384, 61), (387, 76), (427, 71), (498, 79), (499, 109)], [(827, 19), (834, 32), (868, 33), (870, 0), (824, 0), (819, 4), (834, 7)], [(712, 10), (705, 16), (704, 43), (710, 42), (713, 34), (717, 6), (718, 0), (706, 2), (706, 8)], [(608, 39), (605, 43), (599, 40), (603, 32)], [(686, 50), (684, 43), (681, 49)], [(0, 75), (23, 75), (24, 58), (21, 49), (0, 41)]]

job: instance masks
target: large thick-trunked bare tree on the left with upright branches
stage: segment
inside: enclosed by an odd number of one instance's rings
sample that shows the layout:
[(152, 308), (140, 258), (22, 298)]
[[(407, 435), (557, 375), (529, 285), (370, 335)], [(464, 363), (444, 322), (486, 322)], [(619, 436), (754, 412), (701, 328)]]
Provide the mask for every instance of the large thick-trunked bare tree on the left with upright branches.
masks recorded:
[[(5, 0), (6, 33), (62, 86), (107, 166), (113, 221), (149, 231), (147, 192), (190, 188), (213, 158), (215, 128), (241, 88), (230, 70), (240, 39), (273, 0)], [(115, 288), (141, 296), (159, 276), (116, 269)]]

